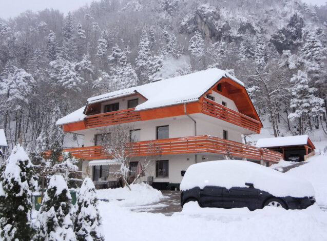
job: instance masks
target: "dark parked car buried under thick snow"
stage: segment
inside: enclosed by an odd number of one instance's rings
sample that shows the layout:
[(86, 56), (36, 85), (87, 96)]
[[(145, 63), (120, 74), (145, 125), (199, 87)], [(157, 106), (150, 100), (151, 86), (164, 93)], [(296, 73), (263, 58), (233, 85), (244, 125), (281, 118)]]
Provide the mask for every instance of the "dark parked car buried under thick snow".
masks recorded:
[(215, 160), (188, 167), (180, 185), (181, 206), (305, 209), (315, 203), (306, 180), (244, 160)]

